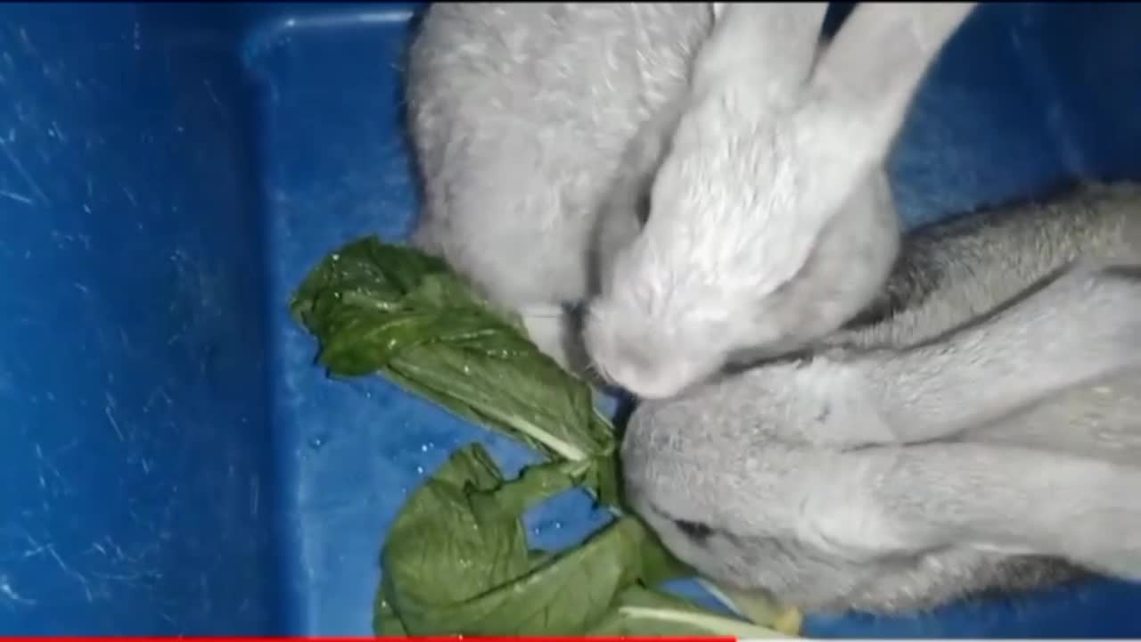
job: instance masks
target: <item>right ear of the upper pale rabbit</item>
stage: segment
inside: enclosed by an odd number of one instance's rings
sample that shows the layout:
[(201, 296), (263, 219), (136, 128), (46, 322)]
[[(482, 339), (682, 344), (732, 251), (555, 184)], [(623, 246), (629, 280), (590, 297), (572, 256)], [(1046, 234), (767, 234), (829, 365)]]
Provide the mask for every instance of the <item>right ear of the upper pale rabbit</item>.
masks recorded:
[(840, 130), (828, 134), (874, 157), (860, 163), (887, 157), (920, 81), (976, 5), (861, 2), (840, 27), (810, 90), (836, 117)]

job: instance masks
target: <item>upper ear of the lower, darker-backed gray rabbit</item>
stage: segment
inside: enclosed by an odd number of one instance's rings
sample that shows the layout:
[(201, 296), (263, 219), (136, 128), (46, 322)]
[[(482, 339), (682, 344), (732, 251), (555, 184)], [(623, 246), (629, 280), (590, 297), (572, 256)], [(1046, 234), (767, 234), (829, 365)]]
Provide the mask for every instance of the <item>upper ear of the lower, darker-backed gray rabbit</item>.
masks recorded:
[(1076, 265), (965, 328), (858, 367), (895, 438), (919, 442), (1141, 368), (1139, 343), (1141, 266)]

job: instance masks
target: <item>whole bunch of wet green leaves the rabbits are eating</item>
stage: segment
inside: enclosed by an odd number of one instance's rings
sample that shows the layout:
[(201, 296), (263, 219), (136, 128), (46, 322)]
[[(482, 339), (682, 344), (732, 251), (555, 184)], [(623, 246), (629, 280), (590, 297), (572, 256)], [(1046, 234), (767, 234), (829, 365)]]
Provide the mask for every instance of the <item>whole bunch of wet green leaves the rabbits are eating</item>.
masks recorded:
[[(547, 459), (504, 480), (469, 446), (412, 495), (381, 554), (378, 634), (780, 635), (654, 591), (693, 573), (623, 514), (616, 438), (589, 386), (443, 262), (363, 239), (322, 262), (291, 311), (330, 372), (380, 374)], [(569, 551), (531, 549), (523, 514), (570, 489), (616, 519)], [(738, 611), (776, 617), (763, 601)]]

